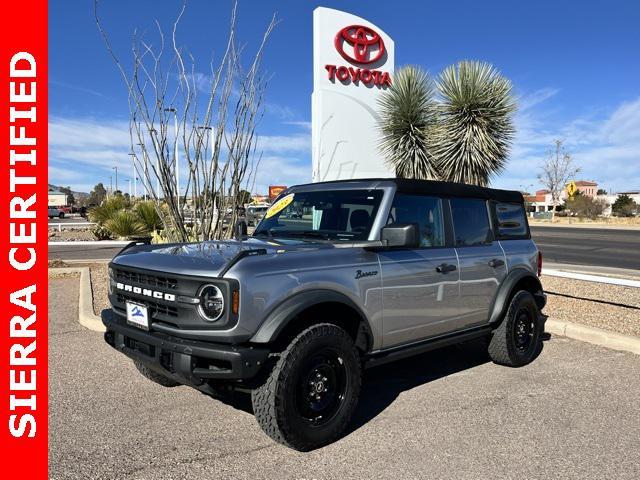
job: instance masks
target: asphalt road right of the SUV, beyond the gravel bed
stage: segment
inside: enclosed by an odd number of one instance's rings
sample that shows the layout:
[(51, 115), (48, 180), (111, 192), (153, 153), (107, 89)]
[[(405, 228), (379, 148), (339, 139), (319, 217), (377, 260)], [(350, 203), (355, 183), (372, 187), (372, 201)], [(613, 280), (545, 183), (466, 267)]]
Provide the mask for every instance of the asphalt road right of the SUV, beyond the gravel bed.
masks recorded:
[(532, 226), (548, 263), (640, 270), (640, 230)]

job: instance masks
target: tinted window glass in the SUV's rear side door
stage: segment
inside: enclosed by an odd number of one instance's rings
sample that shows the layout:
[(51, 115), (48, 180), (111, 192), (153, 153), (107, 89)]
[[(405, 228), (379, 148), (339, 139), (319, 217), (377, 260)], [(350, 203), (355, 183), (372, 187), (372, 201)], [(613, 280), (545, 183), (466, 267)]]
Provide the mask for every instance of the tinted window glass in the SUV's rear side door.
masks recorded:
[(483, 245), (493, 240), (487, 204), (484, 200), (452, 199), (451, 215), (453, 216), (456, 247)]

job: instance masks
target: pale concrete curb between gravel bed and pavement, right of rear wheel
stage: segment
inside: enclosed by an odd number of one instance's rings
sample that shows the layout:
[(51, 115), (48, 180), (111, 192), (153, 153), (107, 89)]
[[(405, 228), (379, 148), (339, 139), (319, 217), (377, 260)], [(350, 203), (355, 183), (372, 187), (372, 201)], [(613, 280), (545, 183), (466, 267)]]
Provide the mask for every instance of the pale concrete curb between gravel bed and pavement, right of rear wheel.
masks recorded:
[(553, 335), (640, 355), (640, 338), (631, 335), (551, 318), (545, 322), (544, 330)]

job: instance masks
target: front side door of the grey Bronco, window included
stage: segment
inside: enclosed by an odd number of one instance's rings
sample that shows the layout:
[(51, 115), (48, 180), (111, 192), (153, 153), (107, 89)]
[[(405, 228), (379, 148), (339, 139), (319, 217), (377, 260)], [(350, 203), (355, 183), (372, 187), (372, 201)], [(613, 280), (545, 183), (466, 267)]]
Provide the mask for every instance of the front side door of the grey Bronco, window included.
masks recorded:
[(458, 260), (451, 235), (446, 234), (446, 208), (437, 197), (396, 194), (387, 223), (417, 223), (421, 245), (379, 253), (385, 348), (455, 329)]

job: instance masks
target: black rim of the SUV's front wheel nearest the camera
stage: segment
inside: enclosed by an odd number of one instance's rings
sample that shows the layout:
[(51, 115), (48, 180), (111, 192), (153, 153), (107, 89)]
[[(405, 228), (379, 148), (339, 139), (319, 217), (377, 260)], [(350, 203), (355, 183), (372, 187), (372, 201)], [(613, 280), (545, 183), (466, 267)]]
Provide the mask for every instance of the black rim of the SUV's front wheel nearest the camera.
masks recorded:
[(313, 426), (330, 422), (344, 403), (347, 369), (342, 356), (331, 349), (315, 353), (300, 371), (296, 406)]

